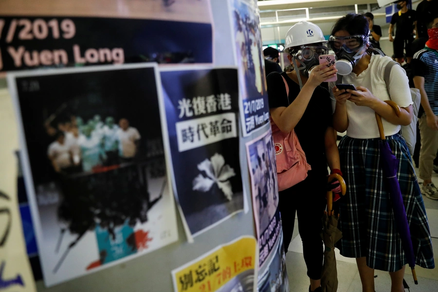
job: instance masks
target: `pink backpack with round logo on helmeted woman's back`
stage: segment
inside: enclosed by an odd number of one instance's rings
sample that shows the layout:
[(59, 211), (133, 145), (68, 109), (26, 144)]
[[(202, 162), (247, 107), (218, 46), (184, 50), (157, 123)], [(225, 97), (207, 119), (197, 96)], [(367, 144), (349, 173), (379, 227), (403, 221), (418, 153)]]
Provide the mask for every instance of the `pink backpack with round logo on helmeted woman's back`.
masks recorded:
[[(289, 101), (289, 86), (286, 79), (283, 76), (281, 77), (286, 86), (286, 94)], [(301, 148), (295, 131), (292, 130), (287, 134), (283, 133), (275, 125), (272, 118), (271, 127), (277, 164), (278, 190), (282, 191), (304, 181), (307, 178), (307, 171), (311, 167), (307, 163), (306, 154), (304, 154), (303, 148)]]

